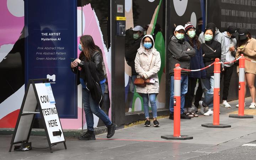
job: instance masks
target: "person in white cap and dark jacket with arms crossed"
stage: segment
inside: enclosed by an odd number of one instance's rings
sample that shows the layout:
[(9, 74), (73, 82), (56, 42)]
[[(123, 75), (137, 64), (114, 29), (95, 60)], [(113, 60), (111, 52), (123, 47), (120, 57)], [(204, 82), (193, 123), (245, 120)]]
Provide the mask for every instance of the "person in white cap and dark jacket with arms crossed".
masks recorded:
[[(174, 35), (170, 37), (171, 41), (168, 45), (168, 60), (170, 73), (170, 117), (174, 119), (174, 68), (175, 64), (180, 64), (181, 68), (190, 69), (190, 57), (196, 54), (196, 50), (185, 41), (185, 28), (181, 25), (177, 26)], [(185, 94), (188, 89), (188, 71), (181, 71), (181, 119), (191, 119), (184, 113)]]

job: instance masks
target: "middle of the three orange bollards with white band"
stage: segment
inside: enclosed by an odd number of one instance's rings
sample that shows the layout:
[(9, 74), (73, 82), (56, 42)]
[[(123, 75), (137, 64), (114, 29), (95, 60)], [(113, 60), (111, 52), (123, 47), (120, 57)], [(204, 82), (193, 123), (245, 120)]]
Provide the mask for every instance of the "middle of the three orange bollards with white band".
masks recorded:
[(228, 128), (228, 124), (219, 123), (219, 99), (220, 99), (220, 62), (219, 58), (215, 58), (214, 63), (214, 89), (213, 89), (213, 123), (202, 124), (202, 127), (208, 128)]

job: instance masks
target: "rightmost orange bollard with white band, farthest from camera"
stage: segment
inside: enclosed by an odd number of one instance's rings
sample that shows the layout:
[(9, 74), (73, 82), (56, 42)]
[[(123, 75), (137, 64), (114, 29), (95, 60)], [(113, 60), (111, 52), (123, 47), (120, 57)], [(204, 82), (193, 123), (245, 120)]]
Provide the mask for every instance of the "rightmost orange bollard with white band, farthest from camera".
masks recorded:
[(245, 101), (245, 58), (241, 54), (239, 59), (239, 86), (238, 86), (238, 114), (230, 114), (230, 118), (253, 118), (253, 115), (244, 114), (244, 101)]

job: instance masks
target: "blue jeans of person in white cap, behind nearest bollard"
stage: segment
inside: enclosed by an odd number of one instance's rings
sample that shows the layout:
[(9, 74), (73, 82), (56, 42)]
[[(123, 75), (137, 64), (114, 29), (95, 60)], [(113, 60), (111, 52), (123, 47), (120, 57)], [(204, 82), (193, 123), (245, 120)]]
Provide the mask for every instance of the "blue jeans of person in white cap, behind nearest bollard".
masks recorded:
[[(181, 74), (181, 114), (184, 112), (185, 105), (185, 94), (187, 93), (188, 87), (188, 75)], [(174, 75), (171, 76), (171, 84), (170, 84), (170, 112), (174, 112)]]

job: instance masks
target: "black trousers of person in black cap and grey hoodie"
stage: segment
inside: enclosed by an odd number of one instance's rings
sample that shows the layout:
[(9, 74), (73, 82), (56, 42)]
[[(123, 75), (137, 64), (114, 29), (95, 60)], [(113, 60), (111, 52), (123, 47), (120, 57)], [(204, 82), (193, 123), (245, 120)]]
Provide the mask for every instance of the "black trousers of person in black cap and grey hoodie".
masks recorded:
[(229, 91), (229, 85), (230, 85), (230, 80), (233, 74), (233, 68), (234, 65), (230, 66), (230, 67), (226, 67), (224, 66), (224, 71), (222, 71), (222, 73), (220, 74), (220, 82), (222, 80), (222, 77), (224, 76), (224, 82), (223, 82), (223, 96), (222, 96), (222, 100), (228, 100), (228, 91)]

